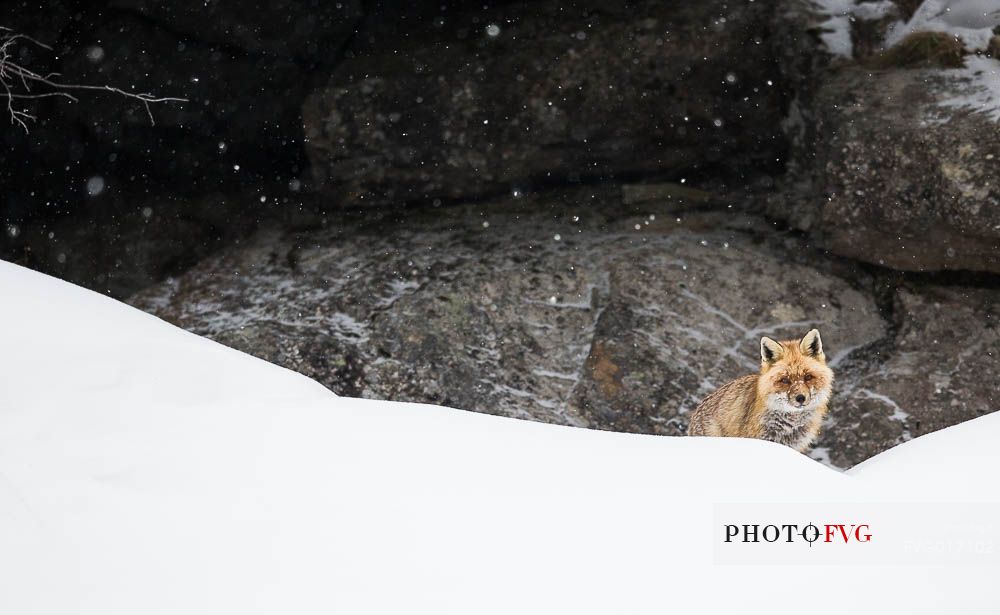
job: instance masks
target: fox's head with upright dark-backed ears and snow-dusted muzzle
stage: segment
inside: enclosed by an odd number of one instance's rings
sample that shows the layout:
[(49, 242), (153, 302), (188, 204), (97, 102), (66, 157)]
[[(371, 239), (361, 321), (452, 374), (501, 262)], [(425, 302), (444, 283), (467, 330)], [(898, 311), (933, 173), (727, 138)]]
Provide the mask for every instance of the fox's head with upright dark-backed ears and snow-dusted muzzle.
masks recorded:
[(813, 329), (801, 340), (760, 340), (758, 391), (770, 407), (789, 412), (812, 410), (830, 399), (833, 370), (826, 365), (823, 340)]

